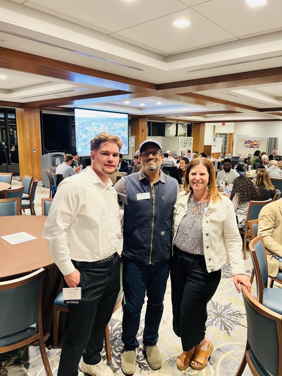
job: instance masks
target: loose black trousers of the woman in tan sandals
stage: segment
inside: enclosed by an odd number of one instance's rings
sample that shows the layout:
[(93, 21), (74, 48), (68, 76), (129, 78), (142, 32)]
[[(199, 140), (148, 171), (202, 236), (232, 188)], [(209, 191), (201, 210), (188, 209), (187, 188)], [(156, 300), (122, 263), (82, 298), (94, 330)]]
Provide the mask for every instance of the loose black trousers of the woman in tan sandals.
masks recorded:
[(173, 331), (181, 337), (183, 351), (205, 338), (207, 304), (221, 278), (221, 270), (208, 273), (205, 257), (183, 252), (174, 246), (171, 258)]

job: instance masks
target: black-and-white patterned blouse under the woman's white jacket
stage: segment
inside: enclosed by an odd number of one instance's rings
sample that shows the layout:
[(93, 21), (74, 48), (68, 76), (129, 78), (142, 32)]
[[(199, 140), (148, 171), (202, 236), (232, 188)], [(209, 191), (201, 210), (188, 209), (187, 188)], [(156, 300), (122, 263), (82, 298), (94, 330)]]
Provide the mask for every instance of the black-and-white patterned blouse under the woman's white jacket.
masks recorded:
[[(198, 206), (196, 215), (194, 215), (195, 206)], [(208, 206), (209, 202), (197, 202), (193, 194), (190, 195), (187, 214), (179, 223), (173, 242), (177, 248), (194, 255), (204, 255), (202, 219)]]

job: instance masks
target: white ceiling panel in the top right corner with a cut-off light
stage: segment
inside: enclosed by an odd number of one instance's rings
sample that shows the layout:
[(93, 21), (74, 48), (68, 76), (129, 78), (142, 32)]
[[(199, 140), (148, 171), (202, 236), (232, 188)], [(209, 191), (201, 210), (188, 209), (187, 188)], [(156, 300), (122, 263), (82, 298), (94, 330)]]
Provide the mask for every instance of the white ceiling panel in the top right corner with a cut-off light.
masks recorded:
[(193, 9), (236, 36), (282, 29), (281, 0), (269, 0), (267, 5), (256, 7), (245, 0), (212, 0)]

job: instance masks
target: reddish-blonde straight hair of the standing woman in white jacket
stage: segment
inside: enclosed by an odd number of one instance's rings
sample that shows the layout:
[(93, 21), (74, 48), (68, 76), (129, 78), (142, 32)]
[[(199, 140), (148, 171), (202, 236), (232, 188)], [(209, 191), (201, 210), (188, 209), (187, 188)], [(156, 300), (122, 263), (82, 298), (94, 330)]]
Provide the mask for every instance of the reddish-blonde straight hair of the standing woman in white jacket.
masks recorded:
[(186, 171), (185, 171), (184, 184), (183, 184), (184, 191), (186, 191), (185, 194), (188, 194), (190, 191), (193, 193), (193, 188), (191, 188), (189, 184), (189, 174), (193, 167), (200, 165), (200, 164), (205, 166), (209, 173), (209, 190), (208, 190), (208, 195), (207, 195), (208, 200), (212, 202), (216, 202), (216, 200), (218, 199), (221, 200), (221, 196), (217, 191), (217, 185), (215, 183), (216, 179), (215, 179), (214, 165), (208, 158), (205, 158), (205, 157), (192, 159), (192, 161), (190, 161), (190, 163), (188, 164)]

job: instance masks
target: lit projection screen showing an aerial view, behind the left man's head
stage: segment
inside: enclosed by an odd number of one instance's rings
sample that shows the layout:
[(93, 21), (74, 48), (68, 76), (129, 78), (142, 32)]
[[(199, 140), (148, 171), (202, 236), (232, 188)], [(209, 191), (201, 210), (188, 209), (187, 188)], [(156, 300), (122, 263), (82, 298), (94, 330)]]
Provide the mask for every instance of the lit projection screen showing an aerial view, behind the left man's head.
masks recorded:
[(128, 154), (128, 114), (75, 108), (76, 150), (90, 155), (90, 141), (101, 132), (118, 135), (123, 140), (122, 154)]

